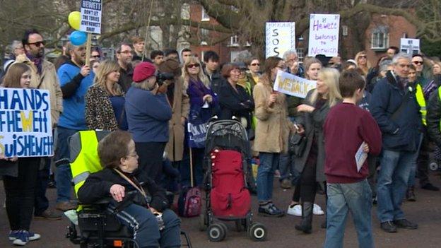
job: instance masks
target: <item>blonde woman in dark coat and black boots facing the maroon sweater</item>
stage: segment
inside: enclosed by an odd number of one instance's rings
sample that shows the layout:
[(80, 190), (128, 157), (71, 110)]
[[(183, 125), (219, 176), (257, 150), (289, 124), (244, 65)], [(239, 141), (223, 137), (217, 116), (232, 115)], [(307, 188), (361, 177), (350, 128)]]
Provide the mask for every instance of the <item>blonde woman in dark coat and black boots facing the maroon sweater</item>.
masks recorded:
[(300, 175), (300, 199), (302, 222), (295, 229), (311, 233), (312, 209), (317, 182), (325, 188), (323, 124), (329, 108), (341, 101), (339, 93), (339, 71), (325, 68), (319, 71), (317, 88), (310, 90), (305, 102), (298, 106), (298, 133), (306, 137), (303, 153), (295, 158), (295, 169)]

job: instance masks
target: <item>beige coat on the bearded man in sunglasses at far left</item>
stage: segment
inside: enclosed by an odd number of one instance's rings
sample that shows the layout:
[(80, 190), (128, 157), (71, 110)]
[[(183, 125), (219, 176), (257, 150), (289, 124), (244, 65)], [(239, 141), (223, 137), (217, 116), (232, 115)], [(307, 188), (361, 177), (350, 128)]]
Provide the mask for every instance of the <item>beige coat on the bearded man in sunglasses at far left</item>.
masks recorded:
[(25, 54), (18, 55), (14, 63), (25, 63), (30, 66), (30, 88), (49, 90), (52, 127), (57, 126), (59, 115), (63, 112), (63, 93), (61, 93), (57, 70), (54, 64), (44, 59), (42, 61), (42, 73), (40, 75), (37, 73), (37, 66), (35, 66)]

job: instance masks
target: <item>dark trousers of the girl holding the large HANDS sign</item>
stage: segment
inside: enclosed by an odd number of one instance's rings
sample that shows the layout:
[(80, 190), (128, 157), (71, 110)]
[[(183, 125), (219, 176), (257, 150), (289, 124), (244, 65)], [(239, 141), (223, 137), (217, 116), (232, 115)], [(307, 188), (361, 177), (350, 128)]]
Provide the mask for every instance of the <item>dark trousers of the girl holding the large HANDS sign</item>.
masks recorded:
[(19, 158), (18, 177), (4, 176), (6, 213), (11, 230), (29, 230), (40, 158)]

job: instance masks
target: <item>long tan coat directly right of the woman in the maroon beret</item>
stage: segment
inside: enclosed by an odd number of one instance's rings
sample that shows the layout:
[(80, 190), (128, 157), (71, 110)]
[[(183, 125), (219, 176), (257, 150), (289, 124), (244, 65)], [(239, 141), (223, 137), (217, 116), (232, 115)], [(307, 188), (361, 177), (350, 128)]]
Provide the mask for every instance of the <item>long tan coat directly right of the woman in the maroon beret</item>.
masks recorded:
[(169, 126), (169, 140), (165, 151), (170, 161), (182, 160), (182, 153), (184, 153), (184, 124), (181, 122), (181, 117), (188, 119), (190, 110), (189, 97), (184, 92), (184, 81), (179, 78), (175, 81), (175, 89), (173, 94), (172, 119), (168, 122)]

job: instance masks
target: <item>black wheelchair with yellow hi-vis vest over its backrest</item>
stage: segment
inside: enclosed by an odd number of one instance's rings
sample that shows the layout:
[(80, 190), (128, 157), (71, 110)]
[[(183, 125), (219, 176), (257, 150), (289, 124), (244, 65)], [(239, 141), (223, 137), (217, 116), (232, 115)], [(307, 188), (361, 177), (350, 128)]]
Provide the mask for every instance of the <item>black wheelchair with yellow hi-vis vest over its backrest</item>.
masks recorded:
[[(90, 173), (101, 170), (98, 158), (98, 141), (104, 138), (109, 131), (78, 131), (69, 138), (69, 151), (71, 154), (69, 163), (73, 174), (75, 194), (86, 181)], [(81, 147), (86, 146), (86, 147)], [(66, 161), (58, 161), (57, 164)], [(97, 163), (98, 162), (98, 163)], [(78, 171), (77, 165), (82, 169)], [(78, 173), (80, 172), (80, 173)], [(79, 176), (79, 177), (78, 177)], [(73, 244), (79, 244), (81, 248), (90, 247), (125, 247), (136, 248), (138, 245), (133, 239), (133, 232), (126, 225), (119, 222), (116, 217), (117, 211), (124, 208), (124, 202), (130, 200), (135, 193), (127, 192), (127, 197), (120, 206), (116, 206), (115, 213), (107, 211), (107, 206), (112, 198), (104, 199), (93, 204), (83, 205), (78, 202), (76, 220), (69, 218), (66, 238)], [(184, 239), (184, 247), (192, 247), (189, 236), (181, 230)]]

